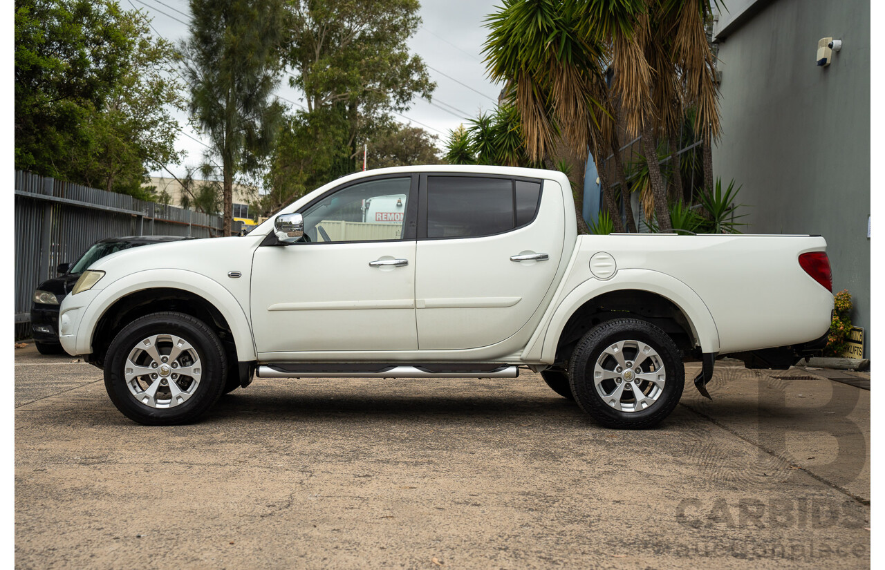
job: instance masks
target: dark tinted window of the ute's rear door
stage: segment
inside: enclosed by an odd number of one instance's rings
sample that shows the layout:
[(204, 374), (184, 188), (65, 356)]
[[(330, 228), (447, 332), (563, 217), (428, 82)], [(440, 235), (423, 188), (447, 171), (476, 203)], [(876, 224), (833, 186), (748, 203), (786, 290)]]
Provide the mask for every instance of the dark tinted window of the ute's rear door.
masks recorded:
[(541, 184), (469, 176), (427, 177), (427, 238), (509, 232), (535, 218)]

